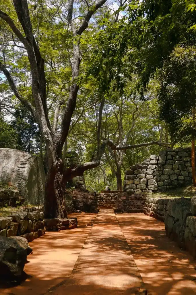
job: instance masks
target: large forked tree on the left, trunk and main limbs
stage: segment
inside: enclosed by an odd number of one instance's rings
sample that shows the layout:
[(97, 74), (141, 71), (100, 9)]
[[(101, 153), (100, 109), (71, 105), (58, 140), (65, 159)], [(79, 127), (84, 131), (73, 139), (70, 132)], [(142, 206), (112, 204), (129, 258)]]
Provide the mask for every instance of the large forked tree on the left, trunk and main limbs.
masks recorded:
[[(71, 117), (73, 115), (74, 109), (76, 107), (76, 99), (79, 90), (77, 83), (77, 78), (79, 76), (79, 68), (81, 63), (81, 52), (80, 52), (80, 36), (88, 28), (88, 23), (96, 13), (96, 11), (106, 2), (106, 0), (93, 1), (93, 3), (88, 4), (86, 1), (86, 6), (83, 6), (81, 10), (80, 21), (75, 21), (74, 4), (73, 0), (65, 1), (61, 3), (62, 14), (66, 14), (67, 24), (64, 23), (64, 31), (67, 31), (67, 25), (71, 31), (72, 44), (70, 53), (70, 64), (71, 64), (71, 85), (69, 87), (69, 94), (66, 106), (63, 110), (61, 128), (56, 130), (56, 121), (58, 122), (58, 108), (59, 104), (56, 105), (56, 116), (54, 116), (53, 125), (51, 125), (48, 117), (48, 107), (46, 102), (46, 75), (45, 75), (45, 65), (44, 59), (41, 55), (38, 37), (34, 35), (34, 27), (32, 26), (32, 21), (30, 18), (29, 9), (33, 11), (36, 10), (36, 5), (31, 6), (30, 2), (27, 0), (14, 0), (14, 9), (16, 14), (13, 15), (12, 9), (8, 9), (11, 6), (11, 1), (6, 1), (5, 4), (1, 5), (1, 9), (10, 11), (10, 15), (0, 10), (0, 18), (6, 22), (9, 29), (12, 31), (13, 42), (21, 46), (25, 54), (28, 57), (29, 62), (29, 77), (30, 86), (32, 91), (33, 102), (31, 102), (27, 97), (21, 94), (21, 91), (15, 83), (14, 78), (11, 75), (11, 71), (8, 70), (6, 66), (4, 48), (2, 50), (2, 59), (0, 61), (0, 70), (6, 76), (9, 85), (14, 92), (15, 96), (19, 101), (31, 112), (33, 118), (37, 122), (41, 135), (46, 143), (46, 152), (48, 158), (48, 173), (46, 177), (45, 184), (45, 206), (44, 206), (44, 216), (46, 218), (52, 217), (65, 217), (66, 207), (64, 200), (65, 184), (69, 178), (73, 176), (80, 175), (89, 166), (95, 165), (95, 163), (88, 163), (87, 165), (82, 165), (74, 167), (73, 169), (65, 169), (62, 160), (62, 148), (66, 137), (69, 132), (69, 126), (71, 124)], [(49, 3), (50, 4), (50, 3)], [(51, 2), (52, 5), (52, 2)], [(7, 9), (6, 9), (7, 7)], [(53, 7), (55, 10), (56, 8)], [(58, 11), (59, 12), (59, 11)], [(17, 15), (17, 18), (16, 18)], [(60, 15), (61, 16), (61, 15)], [(12, 17), (14, 19), (12, 19)], [(78, 20), (78, 16), (76, 17)], [(40, 19), (37, 19), (39, 24)], [(7, 41), (7, 40), (6, 40)], [(62, 42), (61, 46), (64, 44)], [(99, 136), (99, 135), (98, 135)], [(97, 155), (100, 156), (100, 146), (97, 149)]]

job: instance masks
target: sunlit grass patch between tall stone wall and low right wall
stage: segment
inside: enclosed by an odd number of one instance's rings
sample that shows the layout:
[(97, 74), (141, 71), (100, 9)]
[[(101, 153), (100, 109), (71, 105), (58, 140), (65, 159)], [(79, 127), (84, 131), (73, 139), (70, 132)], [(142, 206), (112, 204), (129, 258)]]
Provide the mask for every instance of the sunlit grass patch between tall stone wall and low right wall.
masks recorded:
[(193, 186), (186, 186), (186, 187), (180, 187), (176, 188), (170, 191), (166, 192), (158, 192), (154, 193), (150, 196), (150, 198), (191, 198), (196, 195), (196, 187)]

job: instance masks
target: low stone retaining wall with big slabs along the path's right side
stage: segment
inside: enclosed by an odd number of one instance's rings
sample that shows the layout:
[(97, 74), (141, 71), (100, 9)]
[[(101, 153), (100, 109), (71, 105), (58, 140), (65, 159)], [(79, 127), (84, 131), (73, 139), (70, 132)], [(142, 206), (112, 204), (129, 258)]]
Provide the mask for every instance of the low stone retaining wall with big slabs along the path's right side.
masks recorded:
[(147, 198), (144, 213), (164, 221), (167, 237), (196, 258), (196, 197)]

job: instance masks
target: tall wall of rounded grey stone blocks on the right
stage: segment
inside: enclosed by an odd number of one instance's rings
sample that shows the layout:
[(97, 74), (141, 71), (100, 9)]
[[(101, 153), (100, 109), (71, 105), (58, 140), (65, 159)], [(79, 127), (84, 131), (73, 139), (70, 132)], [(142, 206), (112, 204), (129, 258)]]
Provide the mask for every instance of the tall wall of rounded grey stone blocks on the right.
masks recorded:
[(166, 191), (192, 183), (190, 148), (167, 149), (125, 171), (124, 190), (130, 193)]

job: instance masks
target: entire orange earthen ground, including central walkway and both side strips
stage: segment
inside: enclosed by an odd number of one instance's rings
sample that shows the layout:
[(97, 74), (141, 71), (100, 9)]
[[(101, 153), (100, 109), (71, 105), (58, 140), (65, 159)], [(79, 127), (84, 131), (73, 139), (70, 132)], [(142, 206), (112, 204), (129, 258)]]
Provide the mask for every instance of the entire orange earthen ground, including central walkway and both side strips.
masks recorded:
[[(77, 229), (30, 243), (28, 278), (0, 286), (0, 295), (196, 294), (196, 260), (166, 237), (163, 222), (112, 209), (71, 217), (78, 218)], [(86, 226), (91, 219), (93, 227)]]

